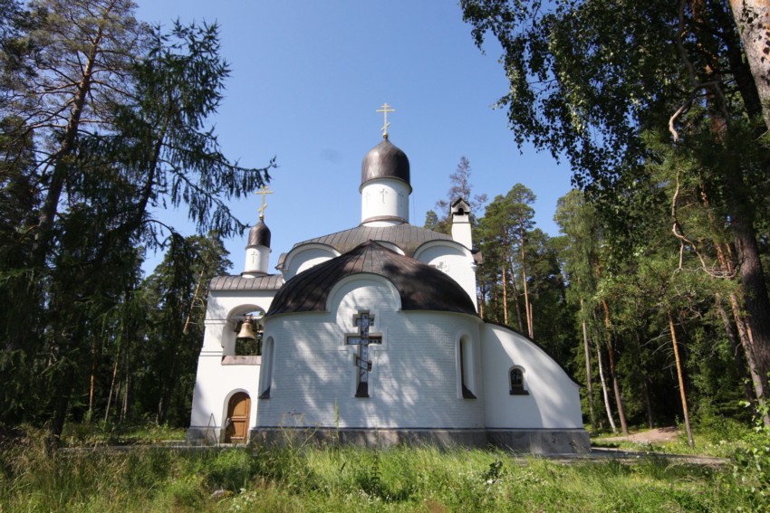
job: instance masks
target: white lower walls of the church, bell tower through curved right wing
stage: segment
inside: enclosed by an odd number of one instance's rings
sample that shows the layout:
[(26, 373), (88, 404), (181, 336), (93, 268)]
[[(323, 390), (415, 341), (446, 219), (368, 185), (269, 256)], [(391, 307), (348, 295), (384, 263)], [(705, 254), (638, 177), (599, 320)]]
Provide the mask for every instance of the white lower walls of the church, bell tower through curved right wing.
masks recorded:
[[(209, 421), (221, 426), (227, 400), (238, 391), (252, 399), (251, 426), (582, 428), (578, 385), (530, 340), (472, 316), (400, 311), (392, 283), (370, 274), (336, 284), (328, 312), (266, 320), (265, 340), (274, 338), (273, 383), (271, 397), (259, 400), (260, 366), (222, 366), (221, 360), (235, 343), (235, 325), (227, 319), (269, 309), (272, 299), (271, 292), (254, 291), (209, 297), (192, 428)], [(382, 336), (381, 345), (370, 346), (368, 398), (355, 397), (358, 348), (345, 345), (345, 336), (357, 333), (353, 316), (363, 309), (374, 315), (371, 333)], [(469, 386), (477, 399), (463, 399), (460, 391), (457, 348), (463, 336), (473, 343)], [(508, 371), (515, 365), (525, 370), (529, 395), (509, 394)]]

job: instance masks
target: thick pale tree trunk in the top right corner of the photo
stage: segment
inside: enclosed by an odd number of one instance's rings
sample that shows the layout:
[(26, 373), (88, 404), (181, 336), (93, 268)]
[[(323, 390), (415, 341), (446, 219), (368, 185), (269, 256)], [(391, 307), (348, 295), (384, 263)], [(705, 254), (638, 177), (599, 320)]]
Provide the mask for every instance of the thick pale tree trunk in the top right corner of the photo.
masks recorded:
[(767, 0), (730, 0), (746, 61), (770, 130), (770, 3)]

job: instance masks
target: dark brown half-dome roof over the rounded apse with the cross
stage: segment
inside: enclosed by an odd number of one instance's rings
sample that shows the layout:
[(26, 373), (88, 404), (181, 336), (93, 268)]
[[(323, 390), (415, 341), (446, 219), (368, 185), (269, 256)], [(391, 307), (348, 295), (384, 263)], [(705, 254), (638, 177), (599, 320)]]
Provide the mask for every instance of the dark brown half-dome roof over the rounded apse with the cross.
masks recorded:
[(360, 273), (378, 274), (399, 290), (402, 310), (437, 310), (476, 315), (467, 292), (448, 274), (368, 241), (288, 280), (266, 315), (324, 311), (335, 283)]

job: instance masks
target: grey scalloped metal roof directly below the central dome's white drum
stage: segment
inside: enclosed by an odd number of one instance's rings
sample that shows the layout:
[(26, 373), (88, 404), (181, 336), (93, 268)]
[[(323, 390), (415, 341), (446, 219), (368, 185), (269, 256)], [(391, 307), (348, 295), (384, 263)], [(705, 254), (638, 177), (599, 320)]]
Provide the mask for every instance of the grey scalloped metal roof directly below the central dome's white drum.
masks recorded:
[(408, 256), (414, 256), (414, 252), (423, 243), (428, 241), (452, 241), (452, 237), (446, 233), (433, 232), (408, 223), (392, 226), (357, 226), (350, 230), (323, 235), (309, 241), (297, 242), (294, 244), (294, 248), (316, 242), (332, 246), (337, 252), (346, 253), (367, 241), (392, 242), (399, 246), (401, 251)]

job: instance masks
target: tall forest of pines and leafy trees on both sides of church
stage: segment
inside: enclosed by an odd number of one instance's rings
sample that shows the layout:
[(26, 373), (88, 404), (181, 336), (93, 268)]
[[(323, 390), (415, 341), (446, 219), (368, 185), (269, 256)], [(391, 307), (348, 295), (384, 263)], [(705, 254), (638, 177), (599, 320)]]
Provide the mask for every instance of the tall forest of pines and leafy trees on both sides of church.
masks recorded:
[[(473, 205), (479, 314), (582, 383), (592, 432), (770, 425), (770, 7), (460, 5), (479, 48), (503, 50), (510, 88), (490, 100), (512, 137), (574, 185), (549, 236), (531, 190), (475, 195), (460, 159), (426, 227)], [(0, 0), (0, 427), (44, 426), (51, 447), (68, 422), (187, 425), (207, 282), (246, 228), (228, 201), (275, 166), (241, 166), (210, 129), (217, 25), (133, 10)], [(171, 206), (198, 235), (163, 223)]]

